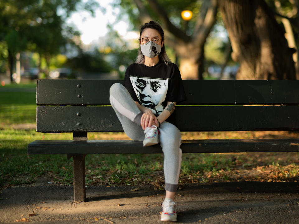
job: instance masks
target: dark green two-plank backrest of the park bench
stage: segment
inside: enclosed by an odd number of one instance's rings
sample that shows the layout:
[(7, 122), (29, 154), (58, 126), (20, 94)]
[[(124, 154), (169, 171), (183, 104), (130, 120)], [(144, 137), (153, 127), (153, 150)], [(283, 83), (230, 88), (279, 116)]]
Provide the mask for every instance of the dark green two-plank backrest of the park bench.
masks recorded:
[[(37, 131), (122, 132), (109, 102), (109, 88), (115, 82), (123, 80), (38, 80)], [(181, 131), (299, 130), (299, 81), (183, 84), (188, 100), (176, 107)], [(261, 106), (243, 106), (252, 104)], [(276, 106), (280, 104), (288, 106)]]

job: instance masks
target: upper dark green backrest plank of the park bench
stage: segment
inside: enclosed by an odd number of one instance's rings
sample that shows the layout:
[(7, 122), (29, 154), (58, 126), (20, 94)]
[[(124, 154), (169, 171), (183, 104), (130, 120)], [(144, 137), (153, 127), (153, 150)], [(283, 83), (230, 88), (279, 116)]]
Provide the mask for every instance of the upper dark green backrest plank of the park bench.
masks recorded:
[[(110, 105), (109, 88), (123, 80), (37, 80), (37, 105)], [(298, 104), (299, 81), (183, 80), (181, 105)], [(78, 97), (79, 96), (79, 97)]]

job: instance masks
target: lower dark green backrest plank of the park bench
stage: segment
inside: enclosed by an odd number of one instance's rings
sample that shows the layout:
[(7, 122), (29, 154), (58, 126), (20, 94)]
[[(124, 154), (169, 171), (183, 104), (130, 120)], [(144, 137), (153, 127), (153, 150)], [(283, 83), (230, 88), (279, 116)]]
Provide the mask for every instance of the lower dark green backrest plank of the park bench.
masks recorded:
[[(78, 114), (78, 115), (77, 115)], [(299, 130), (299, 106), (176, 107), (180, 131)], [(112, 107), (37, 107), (38, 132), (122, 132)]]

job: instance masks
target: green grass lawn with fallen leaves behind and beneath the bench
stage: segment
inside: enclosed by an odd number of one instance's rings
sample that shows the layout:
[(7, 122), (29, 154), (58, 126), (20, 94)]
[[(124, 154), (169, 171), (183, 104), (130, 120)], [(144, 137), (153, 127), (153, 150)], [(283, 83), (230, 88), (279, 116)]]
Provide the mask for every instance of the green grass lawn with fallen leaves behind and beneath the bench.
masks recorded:
[[(34, 88), (32, 84), (22, 88)], [(16, 88), (16, 85), (13, 86)], [(66, 155), (27, 155), (34, 140), (72, 140), (72, 133), (22, 130), (35, 123), (34, 92), (0, 92), (0, 188), (30, 184), (47, 177), (53, 184), (71, 185), (72, 159)], [(18, 128), (20, 127), (20, 128)], [(182, 132), (183, 139), (299, 138), (295, 132)], [(124, 133), (88, 133), (88, 139), (128, 139)], [(186, 182), (298, 181), (299, 154), (183, 154), (180, 185)], [(163, 188), (163, 154), (87, 155), (87, 185), (153, 184)]]

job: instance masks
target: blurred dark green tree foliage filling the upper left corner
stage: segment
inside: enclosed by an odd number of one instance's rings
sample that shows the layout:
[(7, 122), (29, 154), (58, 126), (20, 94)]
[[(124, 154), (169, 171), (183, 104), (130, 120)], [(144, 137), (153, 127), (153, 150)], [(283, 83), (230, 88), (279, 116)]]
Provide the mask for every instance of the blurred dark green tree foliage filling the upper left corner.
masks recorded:
[[(13, 65), (17, 52), (26, 49), (36, 51), (45, 58), (48, 67), (50, 57), (58, 54), (67, 43), (74, 44), (73, 37), (78, 35), (73, 28), (65, 25), (66, 18), (78, 9), (93, 14), (97, 6), (98, 3), (93, 0), (1, 1), (0, 41), (5, 41), (7, 49), (0, 46), (0, 56), (7, 50), (8, 56), (2, 58), (9, 59)], [(12, 67), (10, 69), (12, 72)]]

